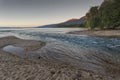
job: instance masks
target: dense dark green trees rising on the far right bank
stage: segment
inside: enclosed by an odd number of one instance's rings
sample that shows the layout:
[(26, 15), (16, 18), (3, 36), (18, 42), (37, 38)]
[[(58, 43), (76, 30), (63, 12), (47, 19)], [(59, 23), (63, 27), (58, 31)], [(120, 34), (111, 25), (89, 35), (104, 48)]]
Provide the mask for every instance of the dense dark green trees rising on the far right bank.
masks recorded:
[(91, 7), (86, 14), (90, 29), (116, 29), (120, 27), (120, 0), (104, 0), (101, 6)]

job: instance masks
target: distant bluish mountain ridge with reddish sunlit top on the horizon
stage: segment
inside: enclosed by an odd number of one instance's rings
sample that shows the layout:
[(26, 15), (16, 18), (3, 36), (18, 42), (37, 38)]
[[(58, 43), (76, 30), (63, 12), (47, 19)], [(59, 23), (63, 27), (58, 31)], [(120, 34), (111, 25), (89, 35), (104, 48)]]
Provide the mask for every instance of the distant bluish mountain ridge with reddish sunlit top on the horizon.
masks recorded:
[(62, 22), (62, 23), (38, 26), (37, 28), (60, 28), (63, 26), (69, 27), (69, 25), (79, 25), (79, 24), (84, 23), (85, 21), (86, 21), (86, 17), (84, 16), (80, 19), (70, 19), (70, 20), (67, 20), (67, 21)]

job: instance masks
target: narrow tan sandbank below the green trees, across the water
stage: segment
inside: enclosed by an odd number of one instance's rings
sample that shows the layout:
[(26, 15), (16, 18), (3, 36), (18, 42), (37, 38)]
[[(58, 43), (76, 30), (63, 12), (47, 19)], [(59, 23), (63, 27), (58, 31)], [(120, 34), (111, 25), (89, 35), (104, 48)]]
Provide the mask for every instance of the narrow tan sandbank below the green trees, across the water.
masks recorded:
[(80, 35), (89, 35), (89, 36), (98, 36), (98, 37), (117, 37), (120, 38), (120, 30), (83, 30), (83, 31), (74, 31), (69, 32), (68, 34), (80, 34)]

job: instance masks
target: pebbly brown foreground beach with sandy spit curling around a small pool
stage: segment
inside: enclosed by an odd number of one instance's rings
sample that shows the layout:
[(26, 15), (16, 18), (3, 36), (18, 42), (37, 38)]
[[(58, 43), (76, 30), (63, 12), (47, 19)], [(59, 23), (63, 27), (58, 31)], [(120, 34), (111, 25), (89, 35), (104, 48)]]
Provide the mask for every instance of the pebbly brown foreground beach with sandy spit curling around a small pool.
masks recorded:
[[(36, 51), (46, 45), (41, 41), (22, 40), (16, 37), (0, 38), (0, 80), (119, 80), (119, 68), (112, 65), (113, 71), (102, 75), (66, 63), (39, 61), (23, 58), (3, 51), (3, 47), (14, 45), (23, 47), (26, 52)], [(99, 60), (99, 59), (98, 59)], [(100, 60), (99, 60), (100, 61)], [(106, 61), (107, 62), (107, 61)], [(107, 62), (108, 63), (108, 62)], [(107, 65), (107, 64), (106, 64)], [(108, 65), (108, 66), (109, 66)], [(109, 66), (110, 67), (110, 66)], [(109, 68), (111, 69), (111, 68)], [(118, 76), (118, 77), (116, 77)]]

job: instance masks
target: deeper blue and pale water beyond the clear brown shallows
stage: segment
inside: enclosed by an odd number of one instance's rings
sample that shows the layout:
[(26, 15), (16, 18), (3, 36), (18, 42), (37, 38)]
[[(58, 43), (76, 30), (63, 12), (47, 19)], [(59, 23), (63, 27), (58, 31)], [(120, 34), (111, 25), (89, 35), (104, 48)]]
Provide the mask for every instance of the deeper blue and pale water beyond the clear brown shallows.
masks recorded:
[(0, 28), (0, 37), (17, 36), (22, 39), (60, 43), (72, 47), (95, 48), (110, 53), (120, 53), (119, 38), (99, 38), (87, 35), (65, 34), (80, 28)]

